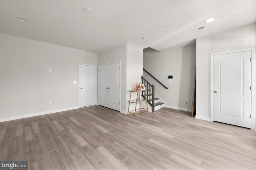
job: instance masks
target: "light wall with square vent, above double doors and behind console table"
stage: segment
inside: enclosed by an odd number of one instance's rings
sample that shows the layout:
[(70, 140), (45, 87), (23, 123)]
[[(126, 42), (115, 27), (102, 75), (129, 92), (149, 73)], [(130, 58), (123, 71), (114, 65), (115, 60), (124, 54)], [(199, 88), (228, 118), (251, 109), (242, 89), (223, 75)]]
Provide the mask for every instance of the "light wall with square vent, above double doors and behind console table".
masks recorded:
[[(134, 58), (128, 57), (129, 49), (134, 50)], [(121, 61), (121, 112), (126, 113), (128, 108), (128, 92), (135, 88), (136, 82), (140, 82), (142, 75), (142, 49), (132, 44), (123, 44), (114, 49), (98, 54), (98, 64), (106, 64)], [(134, 89), (133, 88), (133, 89)]]

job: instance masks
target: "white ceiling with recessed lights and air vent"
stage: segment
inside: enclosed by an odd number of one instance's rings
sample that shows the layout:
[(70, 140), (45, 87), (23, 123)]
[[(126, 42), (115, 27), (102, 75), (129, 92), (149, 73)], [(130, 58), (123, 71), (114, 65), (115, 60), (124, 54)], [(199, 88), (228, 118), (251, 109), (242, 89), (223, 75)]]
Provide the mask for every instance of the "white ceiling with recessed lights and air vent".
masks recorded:
[[(215, 21), (205, 23), (208, 18)], [(95, 53), (123, 43), (164, 51), (255, 22), (256, 0), (0, 1), (1, 33)], [(196, 30), (204, 25), (207, 31)]]

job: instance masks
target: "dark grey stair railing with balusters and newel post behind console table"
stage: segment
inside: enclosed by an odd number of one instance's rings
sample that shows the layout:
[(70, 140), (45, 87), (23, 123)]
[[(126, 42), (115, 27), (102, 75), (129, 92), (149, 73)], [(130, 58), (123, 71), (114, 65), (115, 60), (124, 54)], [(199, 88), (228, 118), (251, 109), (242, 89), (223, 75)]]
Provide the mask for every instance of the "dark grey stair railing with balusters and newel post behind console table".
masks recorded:
[(147, 99), (148, 104), (152, 107), (152, 112), (154, 112), (155, 111), (155, 85), (150, 84), (143, 76), (141, 76), (141, 80), (142, 80), (142, 84), (144, 84), (145, 86), (145, 89), (148, 90), (148, 91), (145, 91), (144, 94), (142, 92), (142, 97), (146, 98), (145, 93), (147, 93), (147, 96), (149, 96), (149, 99)]

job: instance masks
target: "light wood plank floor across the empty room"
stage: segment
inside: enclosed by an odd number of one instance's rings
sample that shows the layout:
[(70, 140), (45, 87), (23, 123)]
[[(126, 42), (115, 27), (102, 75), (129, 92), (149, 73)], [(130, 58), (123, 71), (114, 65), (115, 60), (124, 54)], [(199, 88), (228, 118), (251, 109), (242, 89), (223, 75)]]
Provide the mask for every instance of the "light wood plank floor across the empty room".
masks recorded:
[(0, 123), (0, 160), (29, 170), (255, 170), (256, 131), (168, 108), (134, 117), (92, 106)]

